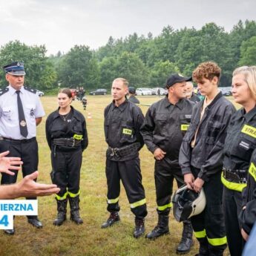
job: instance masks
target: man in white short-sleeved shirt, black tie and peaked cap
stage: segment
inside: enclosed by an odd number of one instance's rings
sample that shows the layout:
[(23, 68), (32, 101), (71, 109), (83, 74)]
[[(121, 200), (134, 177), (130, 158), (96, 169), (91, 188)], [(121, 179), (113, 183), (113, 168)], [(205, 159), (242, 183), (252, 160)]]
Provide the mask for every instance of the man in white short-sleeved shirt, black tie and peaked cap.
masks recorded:
[[(45, 111), (36, 90), (24, 86), (24, 65), (13, 62), (3, 67), (9, 85), (0, 92), (0, 151), (10, 151), (11, 157), (21, 157), (23, 177), (38, 168), (36, 125), (42, 121)], [(2, 174), (1, 184), (16, 183), (15, 175)], [(29, 198), (36, 199), (36, 197)], [(27, 216), (28, 223), (42, 228), (37, 216)], [(7, 229), (6, 234), (14, 234)]]

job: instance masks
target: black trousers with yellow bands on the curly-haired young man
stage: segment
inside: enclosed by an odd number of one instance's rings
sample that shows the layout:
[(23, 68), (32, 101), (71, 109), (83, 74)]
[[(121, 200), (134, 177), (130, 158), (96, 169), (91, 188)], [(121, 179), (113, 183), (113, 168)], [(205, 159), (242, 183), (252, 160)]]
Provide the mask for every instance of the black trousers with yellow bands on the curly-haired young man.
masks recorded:
[[(194, 178), (200, 169), (192, 168)], [(222, 255), (226, 249), (226, 229), (222, 205), (223, 184), (220, 182), (221, 172), (211, 175), (209, 181), (204, 183), (206, 194), (206, 208), (198, 215), (191, 217), (194, 235), (197, 240), (208, 241), (209, 251)], [(220, 254), (219, 254), (220, 252)]]

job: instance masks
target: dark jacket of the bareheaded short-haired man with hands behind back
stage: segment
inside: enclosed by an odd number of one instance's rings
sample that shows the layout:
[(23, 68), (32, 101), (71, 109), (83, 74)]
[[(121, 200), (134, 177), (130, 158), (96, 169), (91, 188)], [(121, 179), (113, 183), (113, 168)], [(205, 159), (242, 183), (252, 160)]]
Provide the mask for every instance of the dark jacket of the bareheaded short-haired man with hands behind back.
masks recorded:
[[(140, 127), (144, 121), (142, 111), (137, 105), (125, 99), (121, 105), (116, 107), (114, 101), (104, 111), (105, 140), (108, 143), (107, 157), (114, 161), (131, 160), (139, 156), (138, 151), (144, 145)], [(123, 157), (111, 155), (110, 148), (123, 148), (138, 143), (137, 150)]]

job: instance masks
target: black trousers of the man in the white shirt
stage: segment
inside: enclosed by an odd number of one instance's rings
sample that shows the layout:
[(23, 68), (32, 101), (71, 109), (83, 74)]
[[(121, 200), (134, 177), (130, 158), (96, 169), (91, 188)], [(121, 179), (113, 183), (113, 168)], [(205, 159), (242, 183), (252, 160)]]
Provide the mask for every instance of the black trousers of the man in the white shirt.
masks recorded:
[[(39, 155), (38, 145), (36, 138), (30, 140), (19, 141), (6, 141), (0, 140), (0, 152), (10, 151), (7, 157), (21, 157), (23, 161), (22, 174), (23, 177), (32, 174), (38, 169)], [(16, 183), (18, 171), (13, 171), (15, 175), (1, 174), (1, 184)], [(36, 197), (30, 197), (27, 199), (36, 199)]]

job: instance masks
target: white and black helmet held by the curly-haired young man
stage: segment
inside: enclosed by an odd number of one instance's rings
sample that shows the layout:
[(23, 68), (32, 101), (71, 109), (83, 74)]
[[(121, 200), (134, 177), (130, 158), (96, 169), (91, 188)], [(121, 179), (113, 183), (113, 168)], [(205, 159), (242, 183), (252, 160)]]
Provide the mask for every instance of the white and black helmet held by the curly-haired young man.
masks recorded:
[(182, 186), (175, 191), (172, 197), (174, 217), (177, 221), (188, 220), (190, 217), (200, 214), (206, 207), (206, 195), (203, 188), (199, 193)]

